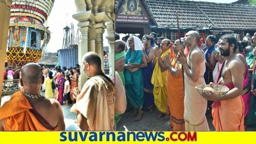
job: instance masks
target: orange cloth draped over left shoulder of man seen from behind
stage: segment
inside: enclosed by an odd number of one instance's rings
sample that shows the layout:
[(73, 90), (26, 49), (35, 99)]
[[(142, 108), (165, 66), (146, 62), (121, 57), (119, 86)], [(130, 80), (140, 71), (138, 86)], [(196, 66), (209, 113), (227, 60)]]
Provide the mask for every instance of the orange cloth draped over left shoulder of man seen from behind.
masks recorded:
[(0, 108), (0, 119), (5, 118), (4, 131), (57, 131), (45, 128), (34, 116), (26, 96), (18, 91)]

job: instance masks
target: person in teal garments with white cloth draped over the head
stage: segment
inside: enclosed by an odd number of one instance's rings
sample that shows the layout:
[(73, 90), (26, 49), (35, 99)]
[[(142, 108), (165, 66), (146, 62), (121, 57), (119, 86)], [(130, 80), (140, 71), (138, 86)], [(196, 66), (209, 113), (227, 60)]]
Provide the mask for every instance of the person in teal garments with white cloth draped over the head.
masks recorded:
[(130, 36), (127, 41), (127, 52), (125, 55), (125, 94), (127, 102), (134, 108), (134, 112), (129, 116), (137, 117), (138, 121), (142, 117), (143, 98), (143, 74), (142, 68), (147, 67), (147, 60), (143, 54), (143, 44), (136, 36)]

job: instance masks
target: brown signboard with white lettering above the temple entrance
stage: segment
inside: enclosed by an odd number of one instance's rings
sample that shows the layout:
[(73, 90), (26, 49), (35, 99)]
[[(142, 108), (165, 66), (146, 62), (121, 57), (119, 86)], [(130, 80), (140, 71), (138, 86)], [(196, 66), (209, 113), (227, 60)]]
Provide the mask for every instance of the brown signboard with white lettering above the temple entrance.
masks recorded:
[(118, 14), (116, 14), (116, 23), (149, 24), (149, 17), (148, 16), (138, 16), (138, 15), (118, 15)]

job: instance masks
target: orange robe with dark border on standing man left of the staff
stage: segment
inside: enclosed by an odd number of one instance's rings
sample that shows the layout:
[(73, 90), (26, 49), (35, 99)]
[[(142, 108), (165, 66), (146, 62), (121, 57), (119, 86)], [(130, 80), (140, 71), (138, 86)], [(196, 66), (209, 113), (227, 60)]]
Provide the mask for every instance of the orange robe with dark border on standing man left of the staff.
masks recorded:
[[(176, 63), (176, 59), (173, 58), (171, 63), (173, 68)], [(176, 78), (169, 70), (167, 72), (167, 113), (170, 114), (170, 125), (173, 131), (185, 131), (182, 73)]]

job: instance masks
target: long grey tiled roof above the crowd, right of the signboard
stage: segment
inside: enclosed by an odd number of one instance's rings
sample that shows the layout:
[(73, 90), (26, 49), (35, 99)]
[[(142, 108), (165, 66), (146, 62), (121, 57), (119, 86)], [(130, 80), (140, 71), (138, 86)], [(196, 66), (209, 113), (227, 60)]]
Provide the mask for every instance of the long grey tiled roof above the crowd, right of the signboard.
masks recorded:
[[(157, 26), (215, 28), (230, 30), (255, 30), (256, 7), (241, 4), (222, 4), (187, 0), (145, 0)], [(123, 0), (115, 0), (116, 10)]]

